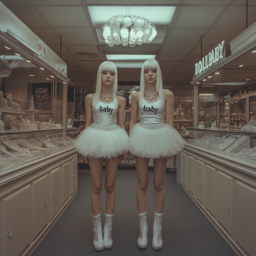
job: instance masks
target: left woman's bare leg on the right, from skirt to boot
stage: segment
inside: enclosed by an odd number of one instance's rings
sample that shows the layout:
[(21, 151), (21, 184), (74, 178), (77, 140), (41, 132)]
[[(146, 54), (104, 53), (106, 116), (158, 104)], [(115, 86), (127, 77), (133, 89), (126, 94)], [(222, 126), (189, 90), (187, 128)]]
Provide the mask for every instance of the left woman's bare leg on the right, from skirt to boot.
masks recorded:
[(113, 214), (116, 203), (116, 172), (118, 168), (119, 156), (106, 158), (106, 176), (104, 187), (106, 189), (106, 214)]

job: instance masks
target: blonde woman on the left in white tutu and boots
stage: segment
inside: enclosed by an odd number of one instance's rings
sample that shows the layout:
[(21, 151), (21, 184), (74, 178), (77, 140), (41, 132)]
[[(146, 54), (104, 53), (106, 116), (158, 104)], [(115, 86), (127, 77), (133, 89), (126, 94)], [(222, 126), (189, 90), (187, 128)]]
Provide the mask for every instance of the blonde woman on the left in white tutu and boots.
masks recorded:
[[(74, 141), (77, 152), (84, 156), (92, 178), (91, 207), (93, 247), (95, 250), (113, 246), (111, 225), (115, 208), (115, 179), (120, 155), (128, 151), (129, 137), (124, 127), (125, 99), (116, 96), (117, 70), (111, 61), (104, 61), (98, 70), (96, 92), (85, 97), (86, 126)], [(100, 193), (102, 166), (105, 161), (106, 219), (102, 237)]]

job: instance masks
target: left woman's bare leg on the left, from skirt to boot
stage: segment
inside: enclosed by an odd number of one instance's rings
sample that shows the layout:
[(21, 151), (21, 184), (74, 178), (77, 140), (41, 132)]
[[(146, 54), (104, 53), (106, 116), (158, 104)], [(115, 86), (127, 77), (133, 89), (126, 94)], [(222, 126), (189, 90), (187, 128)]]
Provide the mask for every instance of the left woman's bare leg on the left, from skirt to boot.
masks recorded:
[(91, 190), (91, 207), (92, 214), (97, 216), (100, 214), (100, 193), (102, 191), (102, 166), (103, 158), (90, 158), (90, 172), (92, 179)]

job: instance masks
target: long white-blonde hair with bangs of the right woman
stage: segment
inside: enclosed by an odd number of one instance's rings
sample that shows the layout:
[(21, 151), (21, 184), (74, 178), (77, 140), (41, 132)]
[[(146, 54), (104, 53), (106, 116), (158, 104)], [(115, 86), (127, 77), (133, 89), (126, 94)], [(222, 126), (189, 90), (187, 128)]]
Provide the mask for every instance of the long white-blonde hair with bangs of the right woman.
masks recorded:
[(144, 99), (144, 93), (145, 93), (145, 78), (144, 78), (145, 69), (157, 70), (156, 91), (159, 93), (161, 102), (163, 102), (163, 80), (162, 80), (161, 68), (157, 60), (146, 60), (142, 65), (141, 76), (140, 76), (140, 100)]

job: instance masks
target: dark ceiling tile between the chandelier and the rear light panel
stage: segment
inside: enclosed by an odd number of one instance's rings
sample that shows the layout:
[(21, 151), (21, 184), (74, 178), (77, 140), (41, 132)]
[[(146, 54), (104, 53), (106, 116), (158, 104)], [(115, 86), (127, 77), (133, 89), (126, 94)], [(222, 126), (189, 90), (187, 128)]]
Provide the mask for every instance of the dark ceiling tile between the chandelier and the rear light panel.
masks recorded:
[(135, 45), (134, 47), (101, 45), (104, 54), (158, 54), (161, 45)]

